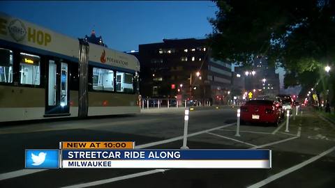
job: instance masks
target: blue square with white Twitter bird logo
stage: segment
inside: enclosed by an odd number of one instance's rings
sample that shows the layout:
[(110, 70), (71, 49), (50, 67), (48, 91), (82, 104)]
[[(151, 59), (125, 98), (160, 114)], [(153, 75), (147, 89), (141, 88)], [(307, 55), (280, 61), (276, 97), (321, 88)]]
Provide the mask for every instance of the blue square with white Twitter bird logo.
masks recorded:
[(60, 164), (59, 150), (26, 150), (26, 169), (58, 169)]

